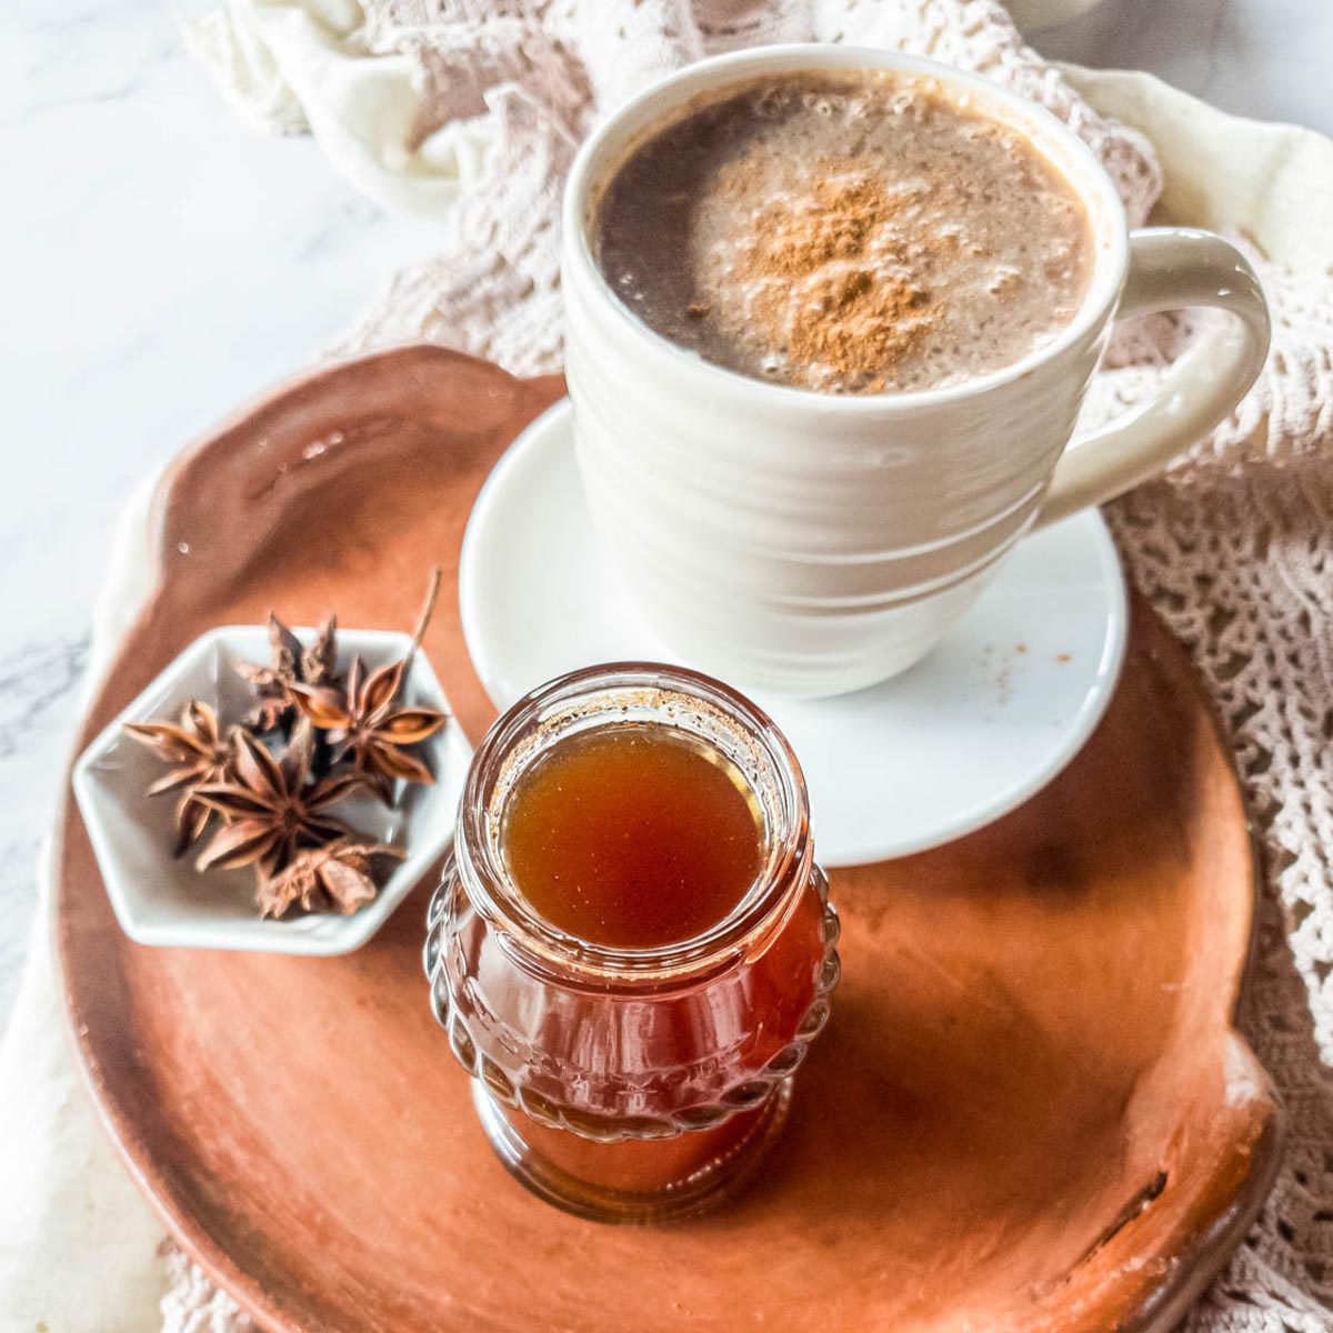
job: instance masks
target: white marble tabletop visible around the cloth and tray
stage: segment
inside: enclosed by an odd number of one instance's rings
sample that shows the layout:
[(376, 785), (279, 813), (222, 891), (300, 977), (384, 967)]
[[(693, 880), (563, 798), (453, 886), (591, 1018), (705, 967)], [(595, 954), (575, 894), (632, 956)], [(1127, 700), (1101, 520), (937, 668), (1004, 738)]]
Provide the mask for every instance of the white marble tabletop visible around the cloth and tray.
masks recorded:
[[(1329, 0), (1105, 0), (1040, 41), (1333, 133)], [(0, 5), (0, 1022), (79, 710), (112, 520), (336, 339), (431, 228), (253, 135), (161, 0)]]

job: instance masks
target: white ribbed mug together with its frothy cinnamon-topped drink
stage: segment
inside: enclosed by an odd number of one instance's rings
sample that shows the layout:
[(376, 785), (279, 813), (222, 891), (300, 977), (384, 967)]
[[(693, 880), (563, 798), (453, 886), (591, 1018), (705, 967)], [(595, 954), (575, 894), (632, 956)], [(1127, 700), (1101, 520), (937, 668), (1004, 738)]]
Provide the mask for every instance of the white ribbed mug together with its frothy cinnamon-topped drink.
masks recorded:
[[(1269, 344), (1245, 257), (1130, 231), (1069, 127), (869, 47), (730, 52), (580, 148), (563, 211), (573, 445), (637, 615), (752, 690), (921, 661), (1034, 529), (1160, 472)], [(1226, 319), (1074, 433), (1113, 321)]]

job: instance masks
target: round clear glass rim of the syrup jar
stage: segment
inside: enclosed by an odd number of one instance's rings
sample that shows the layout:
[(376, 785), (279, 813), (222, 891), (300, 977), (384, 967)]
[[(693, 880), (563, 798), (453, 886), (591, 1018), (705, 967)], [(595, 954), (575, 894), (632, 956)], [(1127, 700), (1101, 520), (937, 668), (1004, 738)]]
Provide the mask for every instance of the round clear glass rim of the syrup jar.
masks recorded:
[[(496, 788), (512, 786), (524, 768), (525, 740), (565, 720), (596, 725), (620, 716), (625, 696), (684, 700), (721, 718), (765, 766), (776, 797), (776, 822), (768, 828), (768, 856), (732, 910), (706, 930), (649, 948), (593, 944), (572, 936), (537, 913), (515, 884), (499, 841), (493, 813)], [(670, 725), (663, 720), (664, 725)], [(697, 733), (696, 733), (697, 734)], [(548, 746), (549, 748), (549, 746)], [(545, 749), (533, 742), (529, 761)], [(507, 769), (508, 765), (508, 769)], [(503, 794), (499, 797), (503, 804)], [(813, 861), (809, 797), (800, 761), (777, 724), (722, 681), (685, 666), (620, 661), (559, 676), (517, 700), (477, 746), (464, 784), (455, 837), (455, 860), (473, 908), (497, 929), (517, 961), (569, 981), (633, 984), (690, 980), (729, 965), (748, 945), (785, 920), (800, 897)]]

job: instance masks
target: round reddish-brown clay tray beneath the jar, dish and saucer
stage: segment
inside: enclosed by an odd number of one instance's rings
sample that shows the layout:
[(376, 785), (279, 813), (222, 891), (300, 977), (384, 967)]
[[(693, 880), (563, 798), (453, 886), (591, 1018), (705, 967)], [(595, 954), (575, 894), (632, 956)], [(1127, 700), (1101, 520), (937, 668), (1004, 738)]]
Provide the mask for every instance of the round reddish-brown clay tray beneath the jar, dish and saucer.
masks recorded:
[[(159, 584), (84, 737), (211, 625), (409, 625), (428, 567), (453, 588), (493, 460), (561, 391), (408, 348), (228, 423), (163, 485)], [(427, 651), (477, 738), (492, 708), (449, 597)], [(1105, 721), (1045, 792), (833, 876), (833, 1021), (760, 1181), (697, 1221), (579, 1221), (492, 1158), (427, 1000), (428, 890), (349, 957), (141, 948), (67, 794), (56, 936), (89, 1086), (167, 1225), (265, 1328), (1166, 1329), (1272, 1180), (1277, 1110), (1232, 1026), (1245, 813), (1142, 605)]]

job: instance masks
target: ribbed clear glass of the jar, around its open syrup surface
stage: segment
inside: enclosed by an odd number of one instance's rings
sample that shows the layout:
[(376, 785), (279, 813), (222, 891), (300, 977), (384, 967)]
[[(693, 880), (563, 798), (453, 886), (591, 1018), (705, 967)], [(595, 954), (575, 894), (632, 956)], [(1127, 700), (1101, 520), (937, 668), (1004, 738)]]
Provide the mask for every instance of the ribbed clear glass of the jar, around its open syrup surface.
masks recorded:
[[(611, 725), (714, 746), (760, 810), (760, 873), (700, 934), (616, 948), (561, 933), (512, 881), (504, 809), (553, 745)], [(756, 1165), (829, 1014), (837, 913), (813, 861), (800, 765), (734, 690), (681, 668), (575, 672), (513, 705), (477, 749), (428, 916), (435, 1014), (504, 1165), (588, 1217), (702, 1208)]]

